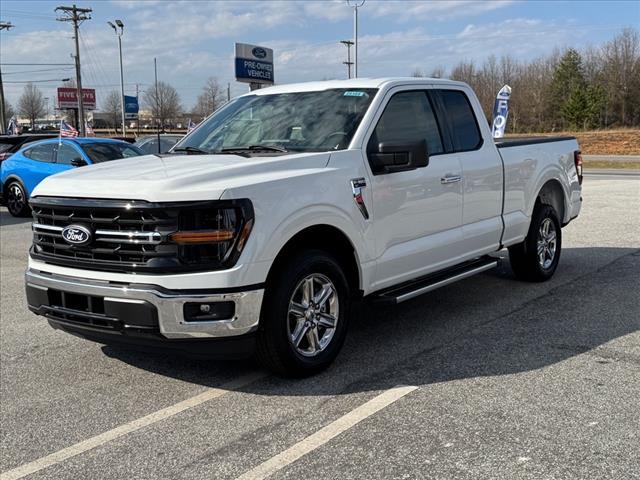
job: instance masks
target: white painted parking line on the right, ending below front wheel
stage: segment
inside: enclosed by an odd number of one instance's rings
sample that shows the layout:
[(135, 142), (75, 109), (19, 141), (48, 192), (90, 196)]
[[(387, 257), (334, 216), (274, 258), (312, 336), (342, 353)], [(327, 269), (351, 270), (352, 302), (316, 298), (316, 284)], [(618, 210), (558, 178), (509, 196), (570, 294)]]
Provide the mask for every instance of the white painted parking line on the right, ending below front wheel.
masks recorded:
[(417, 388), (415, 386), (397, 386), (382, 392), (377, 397), (331, 422), (326, 427), (309, 435), (275, 457), (271, 457), (257, 467), (243, 473), (236, 480), (261, 480), (267, 478)]

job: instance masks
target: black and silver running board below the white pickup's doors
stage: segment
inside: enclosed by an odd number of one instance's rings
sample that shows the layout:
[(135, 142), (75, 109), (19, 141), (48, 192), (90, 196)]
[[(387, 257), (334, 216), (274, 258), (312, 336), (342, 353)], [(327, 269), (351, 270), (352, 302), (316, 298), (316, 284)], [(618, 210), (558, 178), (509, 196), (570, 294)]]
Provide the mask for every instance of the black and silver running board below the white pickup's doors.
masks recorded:
[(461, 263), (455, 267), (448, 268), (441, 272), (432, 273), (425, 277), (395, 285), (381, 290), (371, 296), (374, 303), (396, 304), (431, 292), (437, 288), (444, 287), (450, 283), (457, 282), (477, 273), (491, 270), (499, 265), (500, 259), (493, 257), (482, 257), (470, 262)]

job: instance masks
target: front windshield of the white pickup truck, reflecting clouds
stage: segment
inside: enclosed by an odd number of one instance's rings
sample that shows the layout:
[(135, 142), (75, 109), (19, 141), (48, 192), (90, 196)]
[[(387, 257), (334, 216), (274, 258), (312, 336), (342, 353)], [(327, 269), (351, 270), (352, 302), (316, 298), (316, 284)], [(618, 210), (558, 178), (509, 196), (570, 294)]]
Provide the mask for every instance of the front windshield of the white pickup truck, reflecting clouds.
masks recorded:
[(376, 92), (340, 88), (240, 97), (205, 120), (173, 151), (344, 149)]

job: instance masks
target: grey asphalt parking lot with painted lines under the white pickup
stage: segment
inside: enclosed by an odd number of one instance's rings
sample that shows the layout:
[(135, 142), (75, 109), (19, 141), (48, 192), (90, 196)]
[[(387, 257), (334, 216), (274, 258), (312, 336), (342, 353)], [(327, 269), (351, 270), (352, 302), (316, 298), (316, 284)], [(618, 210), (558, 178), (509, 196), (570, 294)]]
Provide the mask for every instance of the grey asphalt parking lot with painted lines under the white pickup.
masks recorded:
[(587, 176), (555, 277), (363, 308), (326, 372), (104, 347), (28, 312), (0, 212), (0, 478), (640, 478), (640, 176)]

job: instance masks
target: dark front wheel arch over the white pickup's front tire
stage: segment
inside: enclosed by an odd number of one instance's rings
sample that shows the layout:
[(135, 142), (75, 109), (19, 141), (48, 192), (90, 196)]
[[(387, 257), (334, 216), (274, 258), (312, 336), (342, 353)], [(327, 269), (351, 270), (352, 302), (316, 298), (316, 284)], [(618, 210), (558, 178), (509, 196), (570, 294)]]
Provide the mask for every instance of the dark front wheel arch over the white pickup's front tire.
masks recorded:
[(323, 250), (334, 256), (344, 269), (353, 294), (361, 294), (362, 275), (356, 249), (346, 233), (329, 224), (307, 226), (287, 240), (269, 269), (267, 284), (278, 274), (287, 258), (303, 249)]

